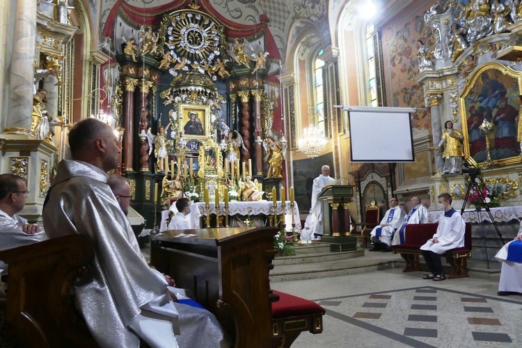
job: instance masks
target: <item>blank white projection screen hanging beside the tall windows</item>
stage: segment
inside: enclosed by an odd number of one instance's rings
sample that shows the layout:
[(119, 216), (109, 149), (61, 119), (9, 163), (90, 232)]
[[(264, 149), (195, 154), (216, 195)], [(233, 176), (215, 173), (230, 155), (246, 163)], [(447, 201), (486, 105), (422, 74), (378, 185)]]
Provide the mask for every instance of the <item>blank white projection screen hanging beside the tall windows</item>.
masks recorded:
[(350, 108), (352, 162), (413, 162), (412, 108)]

